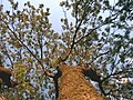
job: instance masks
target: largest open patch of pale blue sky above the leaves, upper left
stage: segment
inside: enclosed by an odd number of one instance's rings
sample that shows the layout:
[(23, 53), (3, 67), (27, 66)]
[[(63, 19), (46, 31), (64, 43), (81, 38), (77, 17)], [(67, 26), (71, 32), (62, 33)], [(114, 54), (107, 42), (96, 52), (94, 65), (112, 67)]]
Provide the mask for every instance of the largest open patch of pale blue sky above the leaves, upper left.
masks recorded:
[[(14, 0), (19, 2), (19, 8), (21, 9), (23, 4), (28, 1), (31, 4), (38, 7), (40, 3), (43, 3), (45, 8), (50, 8), (50, 22), (55, 32), (61, 32), (61, 18), (64, 17), (63, 9), (60, 7), (60, 2), (63, 0)], [(11, 6), (8, 0), (0, 0), (0, 3), (4, 6), (6, 10), (11, 10)]]

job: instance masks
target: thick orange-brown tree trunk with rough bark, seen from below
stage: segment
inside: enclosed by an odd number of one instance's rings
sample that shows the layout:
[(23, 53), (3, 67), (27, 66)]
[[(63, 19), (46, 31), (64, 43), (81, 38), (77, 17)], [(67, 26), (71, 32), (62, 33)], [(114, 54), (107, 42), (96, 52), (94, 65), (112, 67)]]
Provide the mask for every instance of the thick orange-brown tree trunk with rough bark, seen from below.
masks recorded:
[(83, 67), (61, 64), (58, 100), (104, 100), (82, 73)]

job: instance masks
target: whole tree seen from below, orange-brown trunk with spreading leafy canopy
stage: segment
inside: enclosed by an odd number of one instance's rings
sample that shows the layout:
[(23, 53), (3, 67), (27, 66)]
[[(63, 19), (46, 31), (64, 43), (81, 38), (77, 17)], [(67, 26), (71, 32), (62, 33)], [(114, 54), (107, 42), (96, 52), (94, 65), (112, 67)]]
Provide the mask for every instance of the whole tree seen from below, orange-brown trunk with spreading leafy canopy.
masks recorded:
[(63, 1), (62, 33), (52, 29), (49, 8), (27, 2), (19, 10), (18, 2), (9, 1), (12, 11), (0, 7), (0, 54), (18, 86), (2, 87), (7, 99), (133, 98), (132, 82), (121, 82), (122, 77), (133, 77), (132, 63), (126, 61), (133, 57), (132, 0), (113, 6), (109, 0)]

